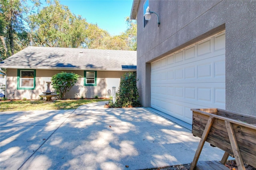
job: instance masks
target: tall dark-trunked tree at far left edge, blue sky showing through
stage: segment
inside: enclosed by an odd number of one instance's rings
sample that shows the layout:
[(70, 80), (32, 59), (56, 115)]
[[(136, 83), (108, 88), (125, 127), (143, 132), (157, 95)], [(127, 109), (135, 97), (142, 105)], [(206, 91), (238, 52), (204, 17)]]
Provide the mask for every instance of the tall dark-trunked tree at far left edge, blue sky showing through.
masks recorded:
[(1, 60), (26, 48), (29, 45), (29, 32), (26, 29), (26, 14), (39, 6), (39, 0), (0, 0), (0, 56)]

